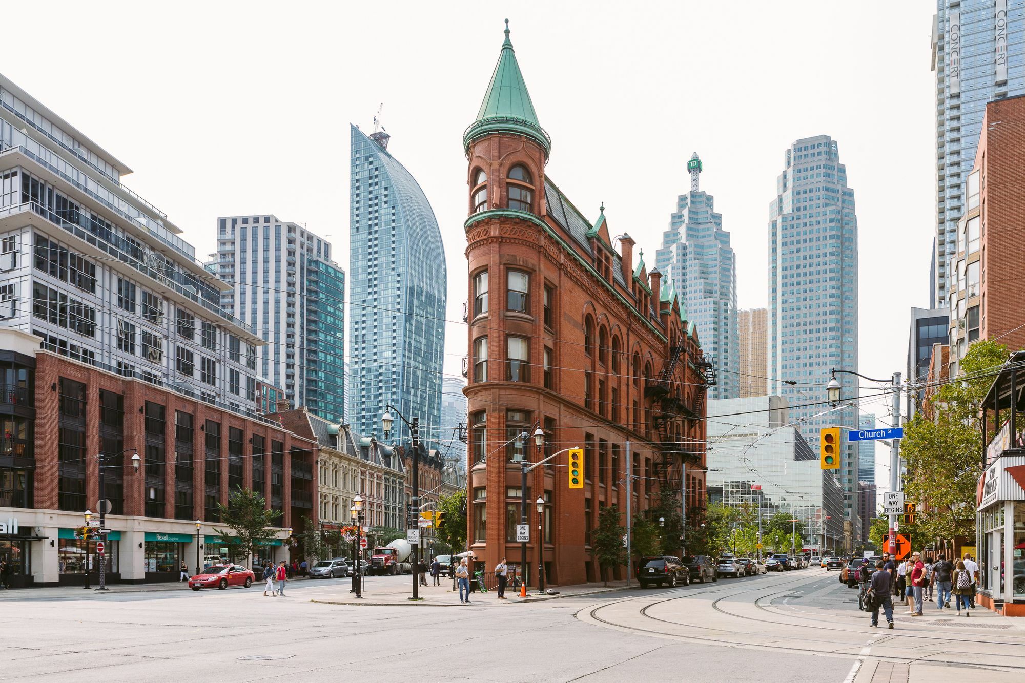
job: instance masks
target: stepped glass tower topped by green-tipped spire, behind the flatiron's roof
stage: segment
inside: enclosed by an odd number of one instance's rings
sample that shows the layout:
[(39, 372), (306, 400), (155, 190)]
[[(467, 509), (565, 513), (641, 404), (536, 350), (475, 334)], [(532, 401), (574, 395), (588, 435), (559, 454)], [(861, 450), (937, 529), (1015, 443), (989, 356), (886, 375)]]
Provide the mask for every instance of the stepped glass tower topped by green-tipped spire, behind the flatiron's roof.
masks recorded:
[[(697, 324), (701, 350), (714, 363), (717, 384), (709, 398), (736, 398), (739, 348), (737, 345), (737, 267), (730, 233), (723, 230), (723, 214), (714, 198), (698, 189), (703, 169), (695, 152), (687, 162), (691, 190), (676, 198), (669, 230), (655, 253), (655, 268), (671, 283), (686, 308), (684, 317)], [(765, 374), (761, 372), (760, 374)]]

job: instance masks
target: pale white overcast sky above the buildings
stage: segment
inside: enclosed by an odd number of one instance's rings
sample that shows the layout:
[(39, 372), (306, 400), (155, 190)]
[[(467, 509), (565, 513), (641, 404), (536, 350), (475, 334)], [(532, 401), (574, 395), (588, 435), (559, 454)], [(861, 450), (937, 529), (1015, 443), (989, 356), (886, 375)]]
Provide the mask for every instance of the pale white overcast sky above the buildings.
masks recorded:
[(651, 263), (697, 152), (732, 234), (741, 308), (767, 306), (785, 150), (832, 136), (857, 203), (860, 371), (890, 377), (906, 373), (910, 307), (929, 307), (934, 12), (930, 0), (182, 1), (54, 2), (42, 16), (11, 3), (0, 72), (131, 166), (124, 185), (200, 257), (215, 249), (218, 215), (273, 213), (329, 239), (346, 271), (348, 124), (372, 130), (383, 104), (388, 151), (445, 240), (445, 371), (459, 375), (462, 132), (507, 17), (552, 139), (546, 173), (591, 219), (604, 202), (610, 232), (628, 232)]

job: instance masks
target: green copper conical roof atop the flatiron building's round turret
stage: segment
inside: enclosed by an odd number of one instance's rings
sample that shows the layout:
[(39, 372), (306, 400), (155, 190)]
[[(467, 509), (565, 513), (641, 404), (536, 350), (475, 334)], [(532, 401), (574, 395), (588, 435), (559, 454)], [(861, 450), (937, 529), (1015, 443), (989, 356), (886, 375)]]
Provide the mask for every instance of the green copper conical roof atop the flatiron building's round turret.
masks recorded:
[(469, 144), (478, 137), (491, 133), (516, 133), (529, 137), (544, 149), (551, 151), (551, 140), (537, 122), (534, 103), (527, 92), (527, 84), (516, 59), (512, 41), (509, 40), (509, 21), (505, 19), (505, 40), (498, 53), (498, 64), (491, 74), (491, 82), (477, 113), (477, 121), (462, 135), (463, 151), (469, 152)]

